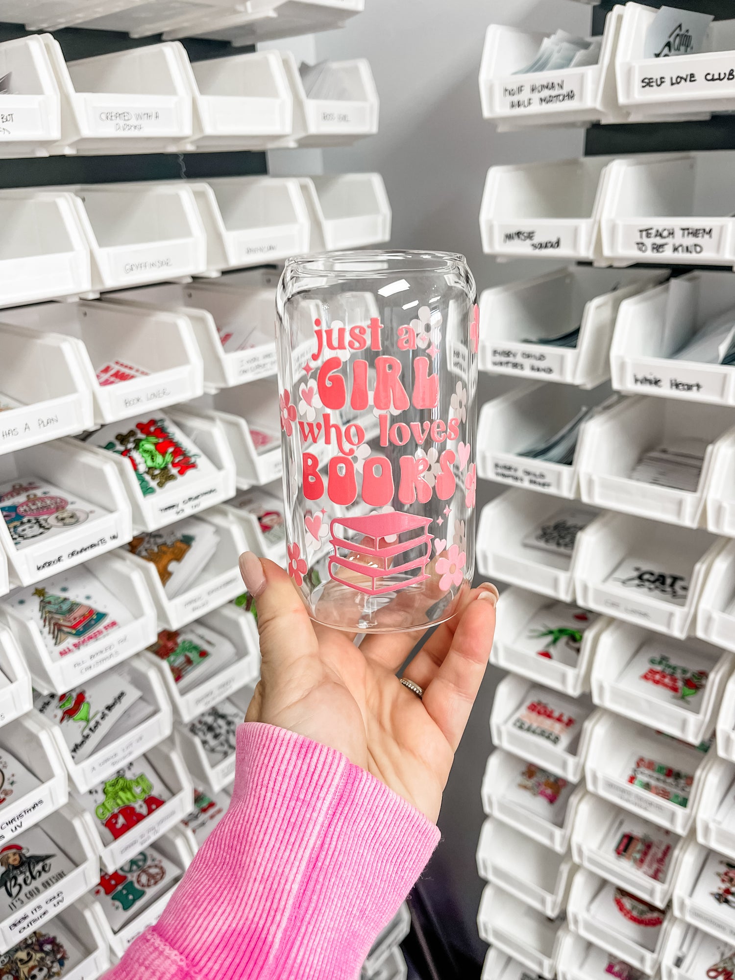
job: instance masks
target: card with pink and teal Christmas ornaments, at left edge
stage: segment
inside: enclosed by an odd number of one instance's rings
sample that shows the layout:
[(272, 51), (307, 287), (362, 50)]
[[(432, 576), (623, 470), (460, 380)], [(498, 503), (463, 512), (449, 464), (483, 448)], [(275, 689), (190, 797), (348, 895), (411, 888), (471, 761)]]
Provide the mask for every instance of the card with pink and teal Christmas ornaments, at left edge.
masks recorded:
[(58, 487), (33, 477), (0, 485), (0, 511), (16, 548), (84, 523), (99, 511), (86, 501), (70, 500)]

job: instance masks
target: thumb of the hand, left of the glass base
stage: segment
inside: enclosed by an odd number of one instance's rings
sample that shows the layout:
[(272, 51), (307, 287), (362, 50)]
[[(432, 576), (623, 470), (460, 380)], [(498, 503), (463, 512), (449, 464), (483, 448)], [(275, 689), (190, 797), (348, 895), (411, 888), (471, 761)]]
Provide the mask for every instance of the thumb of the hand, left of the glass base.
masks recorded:
[(253, 552), (240, 556), (240, 574), (255, 600), (264, 662), (284, 666), (316, 653), (317, 636), (296, 586), (280, 565)]

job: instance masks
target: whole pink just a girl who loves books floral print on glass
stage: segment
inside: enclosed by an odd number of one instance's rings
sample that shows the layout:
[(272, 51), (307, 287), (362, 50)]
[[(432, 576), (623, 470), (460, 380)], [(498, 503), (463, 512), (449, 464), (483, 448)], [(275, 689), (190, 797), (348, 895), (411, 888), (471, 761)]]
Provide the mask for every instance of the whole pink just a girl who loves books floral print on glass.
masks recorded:
[[(307, 382), (294, 401), (290, 390), (280, 394), (281, 428), (298, 444), (293, 448), (301, 495), (307, 505), (319, 502), (299, 524), (307, 516), (311, 527), (305, 526), (319, 544), (317, 515), (319, 507), (326, 513), (325, 500), (337, 509), (360, 508), (361, 513), (347, 510), (330, 519), (327, 569), (335, 582), (367, 596), (424, 581), (432, 541), (447, 545), (451, 506), (446, 524), (444, 516), (408, 513), (410, 508), (425, 514), (432, 500), (456, 502), (459, 513), (451, 518), (456, 523), (474, 506), (464, 383), (458, 381), (448, 404), (440, 404), (441, 325), (438, 310), (420, 307), (417, 319), (391, 329), (390, 345), (399, 356), (390, 356), (384, 353), (388, 330), (377, 316), (352, 325), (315, 319), (315, 349), (303, 368)], [(299, 553), (291, 556), (289, 572), (303, 585), (309, 569), (304, 542), (291, 544)], [(436, 551), (441, 592), (464, 580), (466, 553), (453, 547), (456, 554), (448, 557), (445, 548)]]

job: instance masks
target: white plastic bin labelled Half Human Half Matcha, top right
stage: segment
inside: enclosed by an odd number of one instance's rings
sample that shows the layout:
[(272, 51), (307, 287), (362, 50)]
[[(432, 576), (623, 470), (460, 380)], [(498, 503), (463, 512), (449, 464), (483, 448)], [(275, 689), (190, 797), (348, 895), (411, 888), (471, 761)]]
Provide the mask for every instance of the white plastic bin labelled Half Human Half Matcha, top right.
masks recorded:
[(527, 125), (622, 123), (615, 99), (613, 59), (621, 11), (605, 20), (596, 65), (524, 73), (549, 34), (491, 24), (480, 63), (482, 116), (499, 131)]

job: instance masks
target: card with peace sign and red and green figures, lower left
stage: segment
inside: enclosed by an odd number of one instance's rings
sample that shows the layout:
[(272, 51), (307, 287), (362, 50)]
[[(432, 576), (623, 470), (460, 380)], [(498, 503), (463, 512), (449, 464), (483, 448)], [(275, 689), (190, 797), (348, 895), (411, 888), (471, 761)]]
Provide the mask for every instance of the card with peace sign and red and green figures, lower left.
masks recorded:
[(103, 874), (94, 889), (113, 932), (150, 906), (181, 877), (181, 869), (151, 846)]

